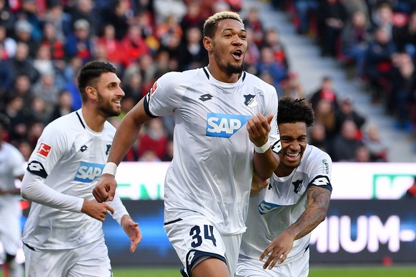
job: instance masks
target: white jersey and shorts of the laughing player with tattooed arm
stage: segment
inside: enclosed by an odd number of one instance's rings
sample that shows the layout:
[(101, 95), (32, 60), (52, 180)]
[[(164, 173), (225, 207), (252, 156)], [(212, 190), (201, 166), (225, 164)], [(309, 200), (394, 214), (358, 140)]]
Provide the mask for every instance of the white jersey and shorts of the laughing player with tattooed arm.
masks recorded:
[(320, 186), (332, 191), (332, 161), (319, 148), (307, 145), (299, 166), (285, 177), (273, 174), (267, 188), (250, 198), (247, 231), (243, 234), (236, 276), (307, 276), (310, 233), (293, 243), (282, 264), (263, 269), (259, 261), (274, 238), (289, 228), (307, 208), (307, 188)]

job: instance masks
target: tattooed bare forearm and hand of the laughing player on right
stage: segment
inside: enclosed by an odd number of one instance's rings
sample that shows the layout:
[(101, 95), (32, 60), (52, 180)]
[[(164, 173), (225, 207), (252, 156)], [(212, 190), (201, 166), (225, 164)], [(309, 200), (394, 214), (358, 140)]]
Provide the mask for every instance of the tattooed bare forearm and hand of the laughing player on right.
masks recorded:
[(269, 253), (270, 256), (264, 263), (263, 268), (273, 268), (279, 262), (283, 263), (287, 254), (292, 250), (293, 242), (312, 232), (327, 216), (330, 206), (331, 191), (319, 186), (310, 186), (307, 189), (307, 208), (301, 216), (283, 233), (274, 238), (269, 247), (264, 250), (260, 260)]

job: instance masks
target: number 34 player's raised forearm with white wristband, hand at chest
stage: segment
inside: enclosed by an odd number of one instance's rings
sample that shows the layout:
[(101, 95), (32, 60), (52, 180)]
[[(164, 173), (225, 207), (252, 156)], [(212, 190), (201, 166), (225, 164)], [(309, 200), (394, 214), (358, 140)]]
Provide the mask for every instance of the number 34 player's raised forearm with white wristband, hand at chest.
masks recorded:
[(262, 114), (257, 114), (257, 116), (247, 120), (249, 139), (256, 146), (253, 161), (254, 172), (263, 180), (270, 178), (279, 165), (279, 156), (273, 153), (269, 144), (269, 132), (272, 129), (270, 122), (272, 122), (272, 119), (272, 114), (267, 118)]

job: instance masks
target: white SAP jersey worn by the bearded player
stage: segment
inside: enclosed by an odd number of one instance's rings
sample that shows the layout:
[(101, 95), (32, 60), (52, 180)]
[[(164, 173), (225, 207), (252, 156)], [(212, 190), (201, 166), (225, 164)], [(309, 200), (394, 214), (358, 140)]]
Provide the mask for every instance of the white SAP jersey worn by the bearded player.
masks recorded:
[[(22, 187), (26, 175), (34, 174), (54, 191), (72, 199), (75, 196), (79, 204), (59, 209), (31, 203), (22, 238), (26, 245), (35, 249), (72, 249), (103, 236), (101, 221), (81, 213), (81, 206), (84, 199), (94, 199), (92, 189), (107, 162), (115, 131), (108, 121), (103, 131), (92, 131), (81, 110), (46, 126), (29, 158)], [(117, 195), (109, 205), (114, 207), (117, 221), (127, 214)]]

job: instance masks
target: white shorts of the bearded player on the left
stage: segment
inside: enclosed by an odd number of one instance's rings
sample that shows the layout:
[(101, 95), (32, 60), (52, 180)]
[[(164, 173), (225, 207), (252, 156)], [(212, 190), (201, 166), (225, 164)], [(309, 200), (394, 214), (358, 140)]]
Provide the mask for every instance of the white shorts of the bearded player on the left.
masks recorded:
[(86, 246), (62, 250), (33, 250), (23, 246), (26, 277), (112, 277), (104, 238)]

